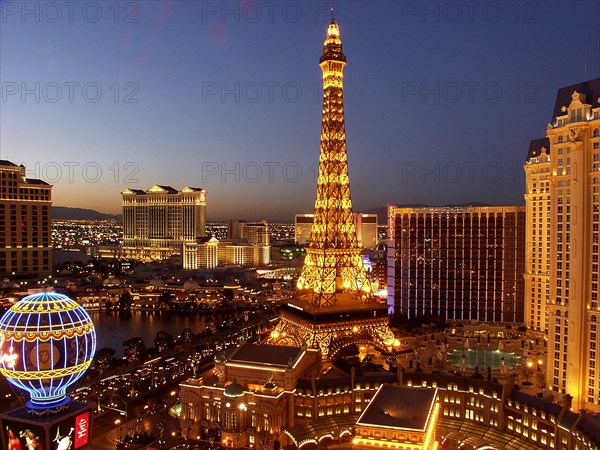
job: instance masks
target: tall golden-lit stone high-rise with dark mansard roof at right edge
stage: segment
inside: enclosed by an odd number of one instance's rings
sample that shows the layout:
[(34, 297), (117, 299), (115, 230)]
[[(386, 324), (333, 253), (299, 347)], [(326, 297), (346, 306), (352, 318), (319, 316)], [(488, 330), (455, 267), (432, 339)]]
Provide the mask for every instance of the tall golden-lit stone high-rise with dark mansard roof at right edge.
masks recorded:
[(559, 89), (546, 138), (533, 143), (527, 323), (547, 329), (548, 389), (599, 412), (600, 78)]

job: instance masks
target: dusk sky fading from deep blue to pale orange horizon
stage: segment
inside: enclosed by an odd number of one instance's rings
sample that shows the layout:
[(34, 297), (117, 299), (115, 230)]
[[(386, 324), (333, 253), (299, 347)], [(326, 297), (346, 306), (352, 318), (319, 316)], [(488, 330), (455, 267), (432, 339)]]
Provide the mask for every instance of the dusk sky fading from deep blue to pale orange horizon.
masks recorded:
[(600, 76), (598, 1), (0, 0), (0, 159), (54, 205), (188, 185), (209, 221), (291, 222), (313, 209), (331, 6), (357, 211), (523, 204), (557, 90)]

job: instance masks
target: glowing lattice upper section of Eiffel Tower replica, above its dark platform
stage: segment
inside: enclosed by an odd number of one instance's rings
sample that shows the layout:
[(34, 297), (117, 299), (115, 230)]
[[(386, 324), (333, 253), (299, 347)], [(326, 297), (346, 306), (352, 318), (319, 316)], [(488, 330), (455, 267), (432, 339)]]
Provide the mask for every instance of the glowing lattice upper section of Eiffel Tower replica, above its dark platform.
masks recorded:
[(319, 177), (314, 223), (298, 290), (313, 306), (327, 307), (341, 297), (351, 296), (359, 302), (372, 299), (352, 215), (344, 124), (346, 56), (333, 17), (319, 65), (323, 71)]

